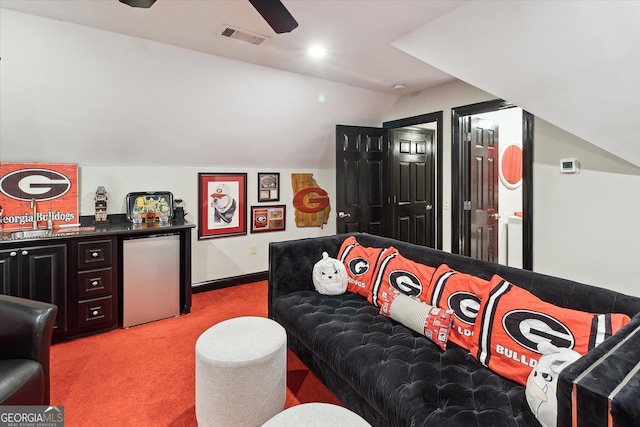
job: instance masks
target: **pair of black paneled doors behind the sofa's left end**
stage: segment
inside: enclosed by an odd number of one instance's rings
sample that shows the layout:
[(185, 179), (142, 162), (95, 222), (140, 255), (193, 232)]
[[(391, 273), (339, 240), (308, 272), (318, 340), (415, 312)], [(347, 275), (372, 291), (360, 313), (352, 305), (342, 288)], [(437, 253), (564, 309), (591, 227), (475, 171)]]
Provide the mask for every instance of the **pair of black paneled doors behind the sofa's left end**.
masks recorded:
[(433, 247), (435, 132), (336, 126), (337, 232)]

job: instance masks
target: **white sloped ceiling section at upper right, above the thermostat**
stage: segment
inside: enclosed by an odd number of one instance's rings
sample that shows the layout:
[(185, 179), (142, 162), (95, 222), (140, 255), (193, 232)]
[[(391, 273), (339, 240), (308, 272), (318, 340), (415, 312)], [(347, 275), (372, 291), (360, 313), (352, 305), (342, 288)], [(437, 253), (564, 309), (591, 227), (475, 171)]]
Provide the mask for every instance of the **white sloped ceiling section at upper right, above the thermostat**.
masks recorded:
[(470, 2), (393, 45), (640, 166), (638, 1)]

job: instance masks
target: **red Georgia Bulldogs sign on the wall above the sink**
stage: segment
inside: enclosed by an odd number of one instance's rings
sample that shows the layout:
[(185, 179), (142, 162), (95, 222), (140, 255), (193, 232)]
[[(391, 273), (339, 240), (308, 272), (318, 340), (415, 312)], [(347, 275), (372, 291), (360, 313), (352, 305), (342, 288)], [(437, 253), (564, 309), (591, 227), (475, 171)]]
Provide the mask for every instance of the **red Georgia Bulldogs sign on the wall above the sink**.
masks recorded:
[(37, 222), (78, 221), (78, 166), (73, 164), (0, 163), (0, 206), (5, 228), (31, 224), (31, 200)]

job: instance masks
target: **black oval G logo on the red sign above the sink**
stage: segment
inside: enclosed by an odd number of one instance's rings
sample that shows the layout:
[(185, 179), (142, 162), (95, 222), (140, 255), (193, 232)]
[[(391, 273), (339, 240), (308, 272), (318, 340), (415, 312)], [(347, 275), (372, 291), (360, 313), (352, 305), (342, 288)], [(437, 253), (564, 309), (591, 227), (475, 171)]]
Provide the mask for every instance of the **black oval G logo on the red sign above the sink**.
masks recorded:
[(31, 199), (56, 199), (70, 189), (69, 178), (49, 169), (21, 169), (8, 173), (0, 180), (2, 194), (27, 202)]

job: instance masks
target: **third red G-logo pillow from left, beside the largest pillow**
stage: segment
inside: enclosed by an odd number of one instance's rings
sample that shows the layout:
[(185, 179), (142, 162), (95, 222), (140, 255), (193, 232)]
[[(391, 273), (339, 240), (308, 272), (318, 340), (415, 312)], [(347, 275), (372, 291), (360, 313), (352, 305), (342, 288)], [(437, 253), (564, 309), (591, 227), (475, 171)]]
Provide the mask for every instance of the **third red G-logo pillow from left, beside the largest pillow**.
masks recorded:
[(474, 326), (480, 302), (487, 292), (488, 280), (460, 273), (442, 264), (431, 279), (425, 301), (445, 310), (453, 310), (453, 327), (449, 340), (469, 350), (475, 341)]

